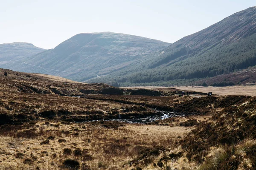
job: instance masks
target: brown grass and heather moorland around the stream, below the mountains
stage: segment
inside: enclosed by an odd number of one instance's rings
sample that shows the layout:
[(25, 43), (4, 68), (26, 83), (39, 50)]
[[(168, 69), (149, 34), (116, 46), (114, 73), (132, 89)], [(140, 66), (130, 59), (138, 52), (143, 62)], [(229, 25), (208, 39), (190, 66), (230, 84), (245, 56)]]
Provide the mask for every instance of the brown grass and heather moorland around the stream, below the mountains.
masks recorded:
[(254, 170), (256, 97), (180, 93), (0, 70), (0, 170)]

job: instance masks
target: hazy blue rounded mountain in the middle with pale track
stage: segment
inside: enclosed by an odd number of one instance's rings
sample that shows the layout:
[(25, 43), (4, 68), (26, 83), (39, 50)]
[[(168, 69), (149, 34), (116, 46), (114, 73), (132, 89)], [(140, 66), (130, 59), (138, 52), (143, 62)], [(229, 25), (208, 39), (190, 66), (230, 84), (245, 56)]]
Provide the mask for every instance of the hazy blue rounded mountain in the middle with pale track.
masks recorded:
[(54, 49), (15, 62), (9, 68), (84, 81), (136, 65), (149, 54), (169, 45), (167, 42), (127, 34), (83, 33)]

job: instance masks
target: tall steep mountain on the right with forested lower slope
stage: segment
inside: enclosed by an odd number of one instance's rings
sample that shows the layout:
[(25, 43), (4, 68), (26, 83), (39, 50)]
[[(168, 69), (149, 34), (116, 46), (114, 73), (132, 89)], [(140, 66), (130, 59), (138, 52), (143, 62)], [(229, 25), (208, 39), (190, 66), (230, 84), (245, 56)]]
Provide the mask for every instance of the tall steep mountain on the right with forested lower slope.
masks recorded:
[(169, 47), (140, 65), (91, 82), (126, 85), (191, 84), (197, 79), (256, 65), (256, 7), (237, 12)]

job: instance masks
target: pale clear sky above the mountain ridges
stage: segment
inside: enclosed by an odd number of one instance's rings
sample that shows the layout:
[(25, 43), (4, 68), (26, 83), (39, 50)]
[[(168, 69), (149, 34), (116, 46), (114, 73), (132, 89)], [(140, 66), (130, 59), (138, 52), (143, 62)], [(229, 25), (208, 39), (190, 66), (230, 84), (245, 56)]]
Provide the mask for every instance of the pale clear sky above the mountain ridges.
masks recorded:
[(173, 43), (252, 6), (255, 0), (0, 0), (0, 44), (50, 49), (104, 31)]

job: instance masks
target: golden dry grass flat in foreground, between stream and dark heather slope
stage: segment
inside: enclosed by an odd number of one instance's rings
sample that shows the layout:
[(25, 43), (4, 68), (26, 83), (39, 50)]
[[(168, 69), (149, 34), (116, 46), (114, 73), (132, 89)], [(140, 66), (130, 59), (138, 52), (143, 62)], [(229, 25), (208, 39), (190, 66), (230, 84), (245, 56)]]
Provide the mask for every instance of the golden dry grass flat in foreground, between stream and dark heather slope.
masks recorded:
[[(54, 126), (56, 124), (58, 127)], [(16, 137), (16, 133), (26, 130), (38, 135)], [(125, 170), (134, 168), (135, 164), (136, 167), (151, 167), (158, 157), (169, 154), (170, 150), (177, 150), (176, 142), (190, 130), (185, 127), (134, 124), (113, 129), (98, 123), (63, 125), (39, 121), (35, 125), (23, 125), (19, 130), (0, 134), (0, 169), (12, 167), (14, 170), (35, 170), (39, 167), (41, 170), (57, 170), (63, 168), (65, 159), (77, 160), (81, 166), (87, 165), (92, 170), (100, 167)], [(46, 139), (49, 143), (44, 143)], [(59, 142), (60, 139), (64, 139), (63, 142)], [(149, 155), (149, 164), (140, 160), (129, 163), (157, 147), (163, 147), (166, 151), (160, 149), (159, 155)]]

